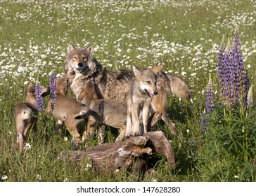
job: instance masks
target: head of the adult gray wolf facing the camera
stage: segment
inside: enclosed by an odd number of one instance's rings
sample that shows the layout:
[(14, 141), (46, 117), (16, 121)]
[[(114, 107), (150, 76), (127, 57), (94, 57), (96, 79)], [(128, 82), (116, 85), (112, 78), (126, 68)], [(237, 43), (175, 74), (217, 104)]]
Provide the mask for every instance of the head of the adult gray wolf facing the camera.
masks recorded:
[(83, 75), (93, 73), (96, 69), (96, 63), (94, 62), (92, 45), (88, 45), (86, 48), (75, 48), (74, 45), (69, 44), (65, 69), (68, 72), (75, 71), (75, 73), (82, 73)]

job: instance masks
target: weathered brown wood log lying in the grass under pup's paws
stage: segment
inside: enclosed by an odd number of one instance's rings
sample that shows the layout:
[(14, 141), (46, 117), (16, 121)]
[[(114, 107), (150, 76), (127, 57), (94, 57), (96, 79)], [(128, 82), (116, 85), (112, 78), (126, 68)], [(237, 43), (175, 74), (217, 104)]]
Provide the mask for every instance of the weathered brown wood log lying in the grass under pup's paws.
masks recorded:
[[(117, 169), (146, 172), (152, 168), (158, 155), (164, 155), (167, 163), (175, 167), (174, 151), (165, 134), (161, 131), (147, 132), (143, 136), (132, 137), (122, 142), (100, 144), (85, 151), (64, 151), (58, 158), (68, 158), (77, 162), (89, 160), (96, 171), (114, 173)], [(158, 156), (157, 156), (158, 155)]]

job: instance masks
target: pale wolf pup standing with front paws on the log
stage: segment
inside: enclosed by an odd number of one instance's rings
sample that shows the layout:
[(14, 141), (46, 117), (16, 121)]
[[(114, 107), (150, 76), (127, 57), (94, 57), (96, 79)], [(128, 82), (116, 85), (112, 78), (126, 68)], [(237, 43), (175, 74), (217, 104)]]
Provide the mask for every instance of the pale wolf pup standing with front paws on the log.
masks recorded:
[(162, 65), (155, 66), (153, 69), (132, 67), (135, 78), (132, 89), (127, 95), (127, 137), (148, 131), (151, 102), (153, 97), (158, 94), (156, 74), (162, 71), (162, 67)]

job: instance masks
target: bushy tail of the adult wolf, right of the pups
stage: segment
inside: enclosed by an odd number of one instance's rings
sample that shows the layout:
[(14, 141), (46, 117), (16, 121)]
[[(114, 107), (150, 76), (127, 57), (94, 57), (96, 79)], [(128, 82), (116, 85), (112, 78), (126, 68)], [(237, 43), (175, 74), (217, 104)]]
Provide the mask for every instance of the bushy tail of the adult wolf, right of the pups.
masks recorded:
[(172, 94), (181, 99), (191, 98), (191, 90), (183, 79), (169, 74), (167, 74), (167, 77), (169, 78), (169, 88)]

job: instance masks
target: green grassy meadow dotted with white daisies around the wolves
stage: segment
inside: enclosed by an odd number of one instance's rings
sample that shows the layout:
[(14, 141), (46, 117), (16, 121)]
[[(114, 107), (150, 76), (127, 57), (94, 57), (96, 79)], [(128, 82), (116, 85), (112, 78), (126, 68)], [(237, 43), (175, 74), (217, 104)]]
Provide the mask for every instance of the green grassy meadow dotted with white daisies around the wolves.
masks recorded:
[[(255, 21), (253, 0), (0, 0), (0, 181), (256, 181), (255, 106), (226, 109), (218, 76), (222, 38), (232, 43), (238, 27), (255, 97)], [(42, 112), (39, 133), (29, 135), (20, 155), (13, 105), (25, 100), (30, 80), (48, 85), (51, 71), (65, 73), (68, 43), (93, 45), (94, 57), (109, 70), (163, 64), (166, 73), (186, 80), (191, 99), (169, 97), (177, 135), (158, 123), (174, 149), (175, 169), (162, 158), (158, 172), (141, 179), (133, 172), (101, 175), (86, 161), (58, 159), (61, 151), (73, 150), (70, 134), (65, 128), (56, 134), (56, 120)], [(202, 130), (210, 79), (215, 108)], [(105, 137), (113, 142), (116, 133), (108, 129)]]

